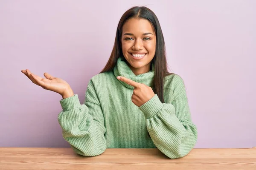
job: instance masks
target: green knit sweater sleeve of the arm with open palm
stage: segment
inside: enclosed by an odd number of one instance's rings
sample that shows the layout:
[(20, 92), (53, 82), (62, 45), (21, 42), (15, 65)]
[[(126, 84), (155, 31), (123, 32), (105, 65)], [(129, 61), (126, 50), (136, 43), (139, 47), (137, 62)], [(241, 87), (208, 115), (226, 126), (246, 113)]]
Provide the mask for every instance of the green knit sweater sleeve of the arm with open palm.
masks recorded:
[(83, 156), (97, 156), (105, 152), (106, 128), (92, 80), (88, 83), (82, 105), (77, 94), (61, 99), (60, 103), (63, 110), (58, 115), (58, 122), (63, 138), (73, 150)]

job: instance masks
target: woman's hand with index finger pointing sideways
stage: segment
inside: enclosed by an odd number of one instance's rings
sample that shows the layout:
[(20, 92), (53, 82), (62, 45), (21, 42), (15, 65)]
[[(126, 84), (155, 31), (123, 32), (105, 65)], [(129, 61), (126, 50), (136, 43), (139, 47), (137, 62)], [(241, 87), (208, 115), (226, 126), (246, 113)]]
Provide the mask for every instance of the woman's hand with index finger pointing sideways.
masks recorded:
[(155, 95), (153, 89), (145, 84), (134, 82), (133, 80), (122, 76), (118, 76), (116, 78), (134, 87), (131, 101), (138, 107), (143, 105), (145, 102), (148, 102), (148, 100)]

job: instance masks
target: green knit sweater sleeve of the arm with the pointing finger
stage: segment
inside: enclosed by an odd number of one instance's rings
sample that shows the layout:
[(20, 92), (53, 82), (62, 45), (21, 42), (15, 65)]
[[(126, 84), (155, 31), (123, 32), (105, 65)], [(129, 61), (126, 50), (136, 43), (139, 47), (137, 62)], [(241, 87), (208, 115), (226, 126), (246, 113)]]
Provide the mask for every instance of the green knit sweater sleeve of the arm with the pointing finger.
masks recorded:
[(169, 158), (175, 159), (186, 156), (195, 146), (197, 127), (191, 119), (181, 77), (175, 75), (172, 85), (165, 90), (169, 98), (167, 101), (172, 102), (162, 103), (155, 94), (139, 109), (144, 113), (148, 133), (156, 147)]

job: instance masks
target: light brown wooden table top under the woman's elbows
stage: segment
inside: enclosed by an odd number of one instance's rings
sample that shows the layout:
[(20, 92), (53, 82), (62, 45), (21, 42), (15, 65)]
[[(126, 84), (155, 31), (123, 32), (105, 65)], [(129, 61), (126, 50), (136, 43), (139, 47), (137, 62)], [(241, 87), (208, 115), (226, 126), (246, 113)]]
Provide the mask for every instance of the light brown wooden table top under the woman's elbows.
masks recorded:
[(0, 170), (256, 170), (256, 148), (193, 149), (169, 159), (158, 149), (79, 156), (71, 148), (0, 147)]

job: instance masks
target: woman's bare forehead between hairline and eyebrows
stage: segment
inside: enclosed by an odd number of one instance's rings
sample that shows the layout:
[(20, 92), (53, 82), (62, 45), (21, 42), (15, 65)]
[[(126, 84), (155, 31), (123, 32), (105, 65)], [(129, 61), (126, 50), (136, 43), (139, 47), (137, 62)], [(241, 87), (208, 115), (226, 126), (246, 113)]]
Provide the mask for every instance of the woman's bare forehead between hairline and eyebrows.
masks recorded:
[(122, 27), (122, 33), (131, 33), (134, 35), (144, 34), (151, 32), (154, 34), (154, 28), (152, 24), (145, 19), (131, 18), (126, 21)]

